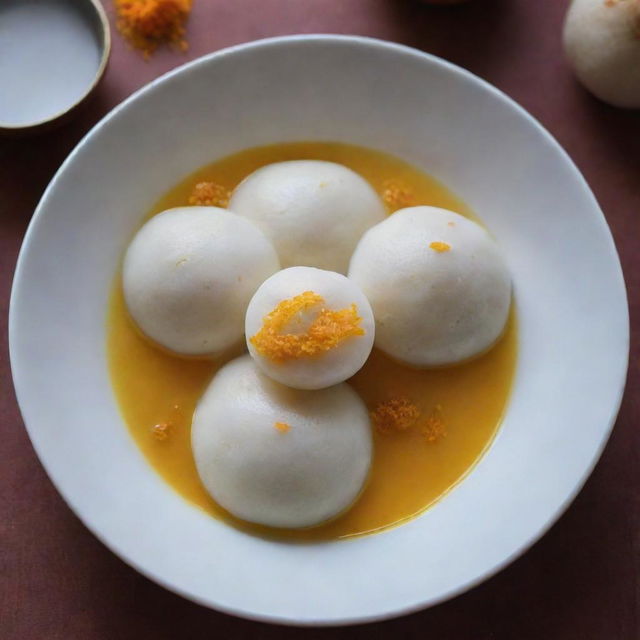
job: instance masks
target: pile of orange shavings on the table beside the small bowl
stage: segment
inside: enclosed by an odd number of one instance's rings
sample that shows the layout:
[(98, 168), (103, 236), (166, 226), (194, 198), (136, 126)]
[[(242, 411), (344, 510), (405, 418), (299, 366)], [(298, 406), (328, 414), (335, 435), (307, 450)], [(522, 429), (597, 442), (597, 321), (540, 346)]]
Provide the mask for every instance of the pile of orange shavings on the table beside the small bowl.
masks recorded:
[(145, 58), (163, 44), (186, 51), (192, 0), (114, 0), (118, 31)]

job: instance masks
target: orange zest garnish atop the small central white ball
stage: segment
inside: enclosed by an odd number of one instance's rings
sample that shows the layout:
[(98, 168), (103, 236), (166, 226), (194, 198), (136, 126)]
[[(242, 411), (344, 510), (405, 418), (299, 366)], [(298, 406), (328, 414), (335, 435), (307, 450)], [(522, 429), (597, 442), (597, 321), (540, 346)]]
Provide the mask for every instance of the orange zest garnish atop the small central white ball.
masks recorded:
[(262, 328), (250, 339), (251, 344), (269, 360), (285, 362), (317, 356), (347, 338), (364, 335), (360, 326), (362, 318), (355, 304), (338, 311), (321, 308), (306, 332), (286, 333), (287, 324), (298, 314), (323, 302), (322, 296), (313, 291), (283, 300), (264, 317)]

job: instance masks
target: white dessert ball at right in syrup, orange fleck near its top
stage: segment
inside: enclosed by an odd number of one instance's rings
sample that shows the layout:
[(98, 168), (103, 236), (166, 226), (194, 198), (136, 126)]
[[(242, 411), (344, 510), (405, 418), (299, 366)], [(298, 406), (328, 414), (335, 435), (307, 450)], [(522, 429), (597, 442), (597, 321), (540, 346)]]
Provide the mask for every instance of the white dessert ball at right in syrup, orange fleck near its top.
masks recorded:
[(511, 279), (497, 245), (446, 209), (402, 209), (370, 229), (349, 278), (371, 303), (376, 346), (417, 367), (486, 351), (509, 314)]

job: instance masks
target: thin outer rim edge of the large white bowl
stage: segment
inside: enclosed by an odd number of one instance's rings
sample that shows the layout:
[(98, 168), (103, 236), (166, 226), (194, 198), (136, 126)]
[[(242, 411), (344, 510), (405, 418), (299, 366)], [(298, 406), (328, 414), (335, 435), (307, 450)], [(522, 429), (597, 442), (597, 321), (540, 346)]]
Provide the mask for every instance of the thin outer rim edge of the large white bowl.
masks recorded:
[[(92, 0), (93, 1), (93, 0)], [(619, 365), (619, 376), (616, 383), (616, 387), (618, 389), (615, 402), (611, 405), (609, 411), (609, 419), (607, 421), (606, 426), (603, 428), (600, 439), (598, 442), (598, 446), (595, 449), (593, 456), (588, 465), (585, 466), (584, 470), (578, 477), (576, 483), (573, 486), (573, 489), (565, 496), (564, 500), (562, 500), (559, 506), (554, 509), (549, 516), (546, 518), (544, 526), (539, 529), (533, 530), (526, 539), (515, 549), (514, 552), (510, 553), (507, 557), (503, 558), (500, 562), (493, 564), (488, 567), (486, 570), (481, 572), (475, 579), (468, 580), (459, 584), (456, 588), (452, 588), (448, 591), (441, 593), (437, 597), (426, 598), (419, 602), (415, 602), (407, 605), (406, 607), (397, 607), (393, 610), (383, 611), (381, 613), (373, 613), (373, 614), (363, 614), (363, 615), (347, 615), (347, 616), (336, 616), (331, 619), (294, 619), (292, 617), (285, 617), (279, 614), (264, 614), (264, 613), (255, 613), (251, 610), (244, 609), (238, 606), (228, 606), (221, 605), (219, 603), (213, 603), (205, 597), (199, 597), (190, 593), (180, 587), (176, 587), (175, 585), (169, 583), (164, 578), (156, 575), (152, 569), (146, 568), (138, 564), (138, 562), (130, 557), (128, 553), (122, 550), (119, 545), (116, 543), (111, 543), (109, 540), (105, 539), (102, 533), (98, 530), (97, 527), (92, 526), (90, 522), (87, 522), (83, 515), (75, 508), (73, 500), (70, 499), (70, 496), (67, 496), (64, 491), (61, 490), (59, 486), (59, 482), (57, 481), (55, 474), (52, 473), (52, 470), (49, 468), (49, 465), (45, 462), (44, 452), (39, 450), (39, 447), (35, 444), (34, 439), (31, 437), (31, 428), (27, 424), (26, 420), (24, 420), (24, 409), (23, 406), (26, 405), (26, 383), (23, 383), (19, 376), (16, 373), (17, 368), (17, 360), (18, 356), (16, 355), (16, 340), (17, 334), (19, 332), (19, 327), (17, 323), (17, 312), (16, 307), (18, 305), (17, 299), (20, 295), (20, 289), (22, 287), (23, 280), (23, 272), (25, 269), (25, 262), (27, 260), (27, 254), (29, 253), (29, 248), (32, 242), (32, 238), (34, 235), (34, 229), (37, 225), (38, 219), (44, 214), (46, 210), (47, 201), (50, 197), (51, 192), (55, 189), (57, 182), (60, 176), (66, 171), (67, 167), (74, 161), (76, 155), (80, 152), (80, 150), (91, 141), (91, 138), (97, 134), (112, 118), (114, 118), (120, 111), (125, 110), (129, 104), (134, 102), (139, 96), (146, 94), (147, 92), (152, 91), (157, 85), (173, 78), (176, 75), (179, 75), (187, 70), (192, 70), (200, 65), (207, 65), (211, 61), (220, 60), (226, 56), (233, 55), (237, 52), (246, 52), (252, 49), (262, 49), (265, 47), (278, 47), (283, 44), (292, 44), (292, 43), (337, 43), (337, 44), (353, 44), (358, 46), (365, 47), (374, 47), (377, 49), (386, 49), (389, 52), (401, 53), (404, 55), (412, 56), (414, 59), (428, 60), (430, 63), (440, 66), (441, 68), (446, 69), (448, 72), (454, 73), (457, 76), (462, 77), (466, 82), (474, 83), (475, 85), (479, 85), (485, 91), (494, 94), (499, 100), (506, 102), (511, 109), (516, 111), (521, 117), (528, 121), (529, 125), (531, 125), (539, 135), (541, 135), (547, 142), (550, 144), (556, 152), (559, 152), (562, 156), (562, 159), (566, 166), (570, 169), (573, 177), (577, 182), (581, 185), (582, 189), (588, 194), (590, 199), (593, 201), (594, 210), (593, 214), (598, 218), (598, 223), (601, 227), (601, 230), (606, 234), (610, 241), (610, 248), (612, 249), (611, 258), (615, 260), (618, 276), (620, 278), (622, 289), (621, 293), (623, 295), (626, 316), (625, 316), (625, 335), (620, 336), (621, 342), (624, 345), (624, 361)], [(25, 233), (23, 243), (19, 252), (18, 260), (16, 263), (13, 285), (11, 290), (11, 298), (10, 298), (10, 307), (9, 307), (9, 355), (11, 362), (11, 371), (14, 382), (14, 388), (16, 392), (16, 398), (18, 401), (18, 405), (20, 408), (21, 416), (23, 418), (23, 422), (29, 438), (34, 446), (38, 459), (40, 463), (43, 465), (47, 475), (49, 476), (50, 481), (55, 486), (58, 493), (62, 496), (64, 501), (67, 503), (72, 512), (81, 520), (81, 522), (91, 531), (91, 533), (96, 536), (110, 551), (115, 553), (120, 559), (125, 561), (131, 567), (136, 569), (139, 573), (149, 578), (150, 580), (156, 582), (157, 584), (163, 586), (167, 590), (176, 593), (192, 602), (197, 604), (206, 606), (208, 608), (214, 609), (216, 611), (220, 611), (226, 614), (230, 614), (233, 616), (241, 617), (248, 620), (254, 620), (259, 622), (266, 622), (271, 624), (282, 624), (287, 626), (299, 626), (299, 627), (335, 627), (335, 626), (343, 626), (343, 625), (355, 625), (369, 622), (376, 622), (381, 620), (392, 619), (400, 616), (404, 616), (410, 613), (414, 613), (417, 611), (421, 611), (423, 609), (435, 606), (444, 601), (447, 601), (451, 598), (454, 598), (458, 595), (461, 595), (475, 586), (485, 582), (489, 578), (493, 577), (500, 571), (502, 571), (505, 567), (511, 564), (515, 559), (524, 554), (528, 549), (530, 549), (536, 542), (538, 542), (543, 535), (558, 521), (558, 519), (564, 514), (566, 509), (571, 505), (573, 500), (576, 498), (585, 482), (591, 475), (594, 467), (599, 461), (602, 452), (608, 442), (608, 439), (611, 435), (611, 431), (615, 424), (618, 411), (620, 409), (620, 405), (622, 402), (624, 390), (625, 390), (625, 382), (626, 375), (628, 369), (628, 359), (629, 359), (629, 344), (630, 344), (630, 335), (629, 335), (629, 307), (628, 307), (628, 296), (626, 291), (626, 285), (624, 282), (624, 276), (622, 272), (622, 267), (620, 264), (619, 255), (617, 252), (617, 248), (615, 247), (613, 236), (611, 234), (610, 228), (606, 222), (606, 218), (600, 208), (593, 192), (591, 191), (589, 185), (587, 184), (585, 178), (572, 161), (568, 153), (564, 150), (564, 148), (557, 142), (557, 140), (547, 131), (546, 128), (540, 124), (540, 122), (534, 118), (528, 111), (526, 111), (522, 106), (520, 106), (515, 100), (510, 98), (503, 91), (493, 86), (489, 82), (483, 80), (479, 76), (476, 76), (472, 72), (452, 63), (447, 60), (444, 60), (438, 56), (433, 54), (429, 54), (423, 52), (419, 49), (409, 47), (402, 44), (397, 44), (377, 38), (371, 38), (366, 36), (353, 36), (353, 35), (341, 35), (341, 34), (298, 34), (298, 35), (285, 35), (285, 36), (276, 36), (270, 38), (264, 38), (260, 40), (250, 41), (238, 45), (234, 45), (231, 47), (226, 47), (224, 49), (220, 49), (218, 51), (206, 54), (199, 58), (196, 58), (192, 61), (189, 61), (161, 76), (154, 79), (150, 83), (144, 85), (134, 93), (132, 93), (128, 98), (122, 101), (120, 104), (116, 105), (108, 114), (106, 114), (97, 124), (95, 124), (85, 136), (78, 142), (76, 147), (71, 151), (71, 153), (67, 156), (67, 158), (63, 161), (59, 169), (54, 174), (47, 188), (45, 189), (36, 209), (33, 214), (33, 217), (29, 223), (27, 231)]]

